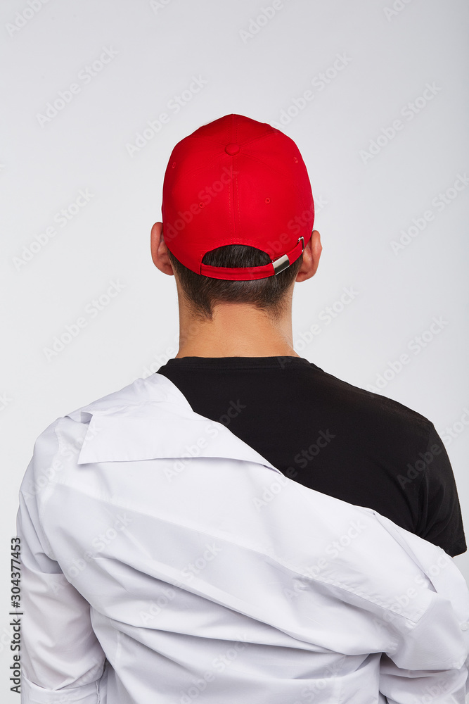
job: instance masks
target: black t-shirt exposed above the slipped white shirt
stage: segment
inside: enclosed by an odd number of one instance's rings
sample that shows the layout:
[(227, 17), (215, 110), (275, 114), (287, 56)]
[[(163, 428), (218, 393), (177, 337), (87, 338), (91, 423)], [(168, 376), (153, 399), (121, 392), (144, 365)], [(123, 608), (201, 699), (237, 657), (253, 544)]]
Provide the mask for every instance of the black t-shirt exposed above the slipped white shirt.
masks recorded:
[(286, 477), (373, 508), (451, 556), (467, 550), (453, 470), (423, 415), (302, 357), (181, 357), (158, 373)]

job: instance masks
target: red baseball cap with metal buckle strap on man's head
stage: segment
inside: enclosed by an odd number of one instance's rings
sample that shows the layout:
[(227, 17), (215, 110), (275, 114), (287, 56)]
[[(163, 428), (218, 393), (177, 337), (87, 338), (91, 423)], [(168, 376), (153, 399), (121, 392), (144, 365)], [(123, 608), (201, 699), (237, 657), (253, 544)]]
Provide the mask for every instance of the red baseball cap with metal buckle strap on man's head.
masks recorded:
[[(263, 279), (293, 264), (311, 237), (314, 201), (295, 142), (265, 122), (224, 115), (174, 147), (165, 172), (163, 238), (177, 260), (214, 279)], [(217, 267), (226, 244), (262, 249), (271, 263)]]

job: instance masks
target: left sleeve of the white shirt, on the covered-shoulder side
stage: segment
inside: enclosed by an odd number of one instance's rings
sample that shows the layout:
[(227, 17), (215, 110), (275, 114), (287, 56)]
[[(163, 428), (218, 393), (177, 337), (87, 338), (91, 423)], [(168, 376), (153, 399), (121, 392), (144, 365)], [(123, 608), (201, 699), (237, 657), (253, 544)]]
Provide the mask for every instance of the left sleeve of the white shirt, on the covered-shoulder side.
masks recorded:
[(65, 578), (41, 529), (37, 495), (48, 491), (53, 425), (37, 439), (19, 494), (21, 704), (99, 704), (105, 653), (91, 626), (89, 603)]

